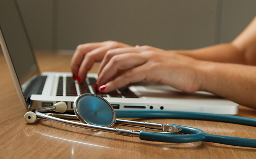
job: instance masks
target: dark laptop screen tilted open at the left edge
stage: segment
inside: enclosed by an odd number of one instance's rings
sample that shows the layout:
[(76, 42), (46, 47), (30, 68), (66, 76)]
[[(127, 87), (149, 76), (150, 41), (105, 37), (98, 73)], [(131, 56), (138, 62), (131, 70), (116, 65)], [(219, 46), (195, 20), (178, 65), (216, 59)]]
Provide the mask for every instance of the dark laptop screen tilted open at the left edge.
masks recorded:
[[(0, 0), (0, 28), (23, 94), (39, 75), (24, 23), (13, 0)], [(5, 47), (5, 46), (1, 46)], [(26, 97), (25, 97), (26, 98)]]

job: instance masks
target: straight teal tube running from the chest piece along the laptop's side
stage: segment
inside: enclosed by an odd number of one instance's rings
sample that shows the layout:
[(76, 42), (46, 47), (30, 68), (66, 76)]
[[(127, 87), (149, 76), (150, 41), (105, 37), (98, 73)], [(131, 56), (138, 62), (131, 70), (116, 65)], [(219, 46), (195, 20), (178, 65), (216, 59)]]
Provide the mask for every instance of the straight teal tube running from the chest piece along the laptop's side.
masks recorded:
[(174, 119), (193, 119), (208, 120), (214, 122), (226, 122), (233, 124), (256, 126), (256, 119), (245, 118), (241, 116), (232, 116), (224, 114), (197, 113), (197, 112), (179, 112), (179, 111), (123, 111), (117, 110), (117, 118), (174, 118)]

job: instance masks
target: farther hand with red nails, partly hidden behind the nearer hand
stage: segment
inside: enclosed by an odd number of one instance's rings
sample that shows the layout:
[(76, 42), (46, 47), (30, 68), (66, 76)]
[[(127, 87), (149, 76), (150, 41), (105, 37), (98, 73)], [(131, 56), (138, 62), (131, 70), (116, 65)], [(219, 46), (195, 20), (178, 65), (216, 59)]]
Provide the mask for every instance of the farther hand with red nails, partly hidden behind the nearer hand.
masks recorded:
[(116, 41), (78, 45), (70, 63), (73, 79), (77, 79), (79, 83), (83, 82), (94, 62), (101, 61), (108, 50), (119, 47), (131, 46)]

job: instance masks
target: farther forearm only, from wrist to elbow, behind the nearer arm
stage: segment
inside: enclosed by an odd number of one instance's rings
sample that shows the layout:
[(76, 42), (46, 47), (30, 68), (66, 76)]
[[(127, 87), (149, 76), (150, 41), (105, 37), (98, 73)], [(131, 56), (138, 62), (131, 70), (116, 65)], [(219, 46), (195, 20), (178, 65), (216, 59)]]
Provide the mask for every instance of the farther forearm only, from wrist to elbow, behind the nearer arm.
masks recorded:
[(198, 60), (245, 64), (243, 53), (232, 43), (225, 43), (195, 50), (179, 50), (178, 54)]

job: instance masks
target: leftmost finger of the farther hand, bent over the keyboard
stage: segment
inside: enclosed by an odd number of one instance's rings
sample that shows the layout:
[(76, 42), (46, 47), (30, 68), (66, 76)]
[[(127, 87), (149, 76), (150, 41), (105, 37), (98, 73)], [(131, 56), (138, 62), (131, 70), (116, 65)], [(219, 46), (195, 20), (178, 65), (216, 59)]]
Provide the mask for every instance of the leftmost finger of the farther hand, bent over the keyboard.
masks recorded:
[(71, 72), (75, 75), (75, 78), (77, 78), (78, 70), (82, 63), (82, 60), (84, 59), (85, 54), (102, 45), (105, 45), (105, 42), (87, 43), (87, 44), (81, 44), (77, 46), (70, 63)]

